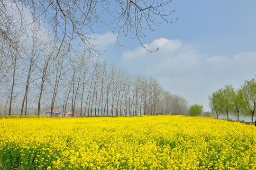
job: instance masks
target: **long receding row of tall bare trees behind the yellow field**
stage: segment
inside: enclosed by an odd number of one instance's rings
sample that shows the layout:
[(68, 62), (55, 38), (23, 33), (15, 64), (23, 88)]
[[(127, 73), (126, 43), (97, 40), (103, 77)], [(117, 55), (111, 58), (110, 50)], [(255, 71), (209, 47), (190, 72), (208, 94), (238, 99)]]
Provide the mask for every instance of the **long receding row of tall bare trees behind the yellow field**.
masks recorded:
[(86, 52), (59, 49), (37, 28), (29, 34), (10, 33), (12, 43), (1, 39), (0, 114), (42, 115), (46, 110), (71, 111), (73, 116), (187, 113), (188, 102), (165, 91), (154, 77), (129, 74), (87, 57)]

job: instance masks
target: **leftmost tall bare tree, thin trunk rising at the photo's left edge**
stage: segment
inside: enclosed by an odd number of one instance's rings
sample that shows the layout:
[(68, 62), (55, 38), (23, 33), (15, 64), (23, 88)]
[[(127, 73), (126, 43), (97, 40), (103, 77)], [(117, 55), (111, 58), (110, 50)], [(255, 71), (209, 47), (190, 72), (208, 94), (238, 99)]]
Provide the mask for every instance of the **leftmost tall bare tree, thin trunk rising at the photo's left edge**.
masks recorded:
[[(20, 30), (18, 30), (13, 23), (14, 16), (7, 17), (3, 15), (5, 9), (0, 10), (0, 86), (11, 82), (10, 87), (10, 101), (9, 101), (9, 116), (12, 110), (13, 91), (16, 81), (16, 72), (20, 63)], [(2, 80), (5, 79), (5, 82)], [(1, 88), (3, 89), (3, 88)]]

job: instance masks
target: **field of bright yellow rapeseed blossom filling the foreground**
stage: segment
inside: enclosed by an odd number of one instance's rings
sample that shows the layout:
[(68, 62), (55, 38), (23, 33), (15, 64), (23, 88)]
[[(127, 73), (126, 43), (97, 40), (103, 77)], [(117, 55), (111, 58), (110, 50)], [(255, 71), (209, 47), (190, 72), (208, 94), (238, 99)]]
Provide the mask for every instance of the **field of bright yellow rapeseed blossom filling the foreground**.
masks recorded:
[(256, 170), (256, 127), (186, 116), (0, 118), (2, 170)]

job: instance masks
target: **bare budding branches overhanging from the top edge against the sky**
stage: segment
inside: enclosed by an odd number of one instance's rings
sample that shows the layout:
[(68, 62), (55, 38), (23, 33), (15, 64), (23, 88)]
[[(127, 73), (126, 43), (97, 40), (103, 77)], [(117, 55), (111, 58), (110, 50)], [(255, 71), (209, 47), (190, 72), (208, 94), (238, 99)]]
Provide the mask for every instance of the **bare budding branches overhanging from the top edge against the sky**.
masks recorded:
[[(40, 23), (47, 34), (53, 37), (59, 50), (81, 46), (91, 56), (97, 55), (90, 34), (95, 28), (108, 26), (120, 36), (132, 36), (146, 49), (141, 38), (145, 30), (154, 31), (153, 26), (162, 22), (173, 23), (176, 19), (168, 16), (172, 0), (0, 0), (0, 35), (12, 42), (13, 26), (23, 26), (26, 31), (35, 23)], [(17, 22), (19, 24), (17, 24)], [(97, 44), (95, 44), (97, 45)]]

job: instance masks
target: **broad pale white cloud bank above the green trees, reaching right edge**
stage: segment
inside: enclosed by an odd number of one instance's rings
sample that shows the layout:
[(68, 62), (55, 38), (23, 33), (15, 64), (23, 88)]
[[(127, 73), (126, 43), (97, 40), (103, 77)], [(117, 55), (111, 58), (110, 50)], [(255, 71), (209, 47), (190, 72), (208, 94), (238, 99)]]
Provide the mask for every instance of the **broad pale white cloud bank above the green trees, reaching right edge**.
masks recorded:
[(191, 43), (166, 38), (150, 45), (159, 51), (142, 47), (125, 51), (119, 63), (128, 70), (155, 76), (165, 90), (182, 95), (190, 104), (203, 104), (205, 111), (209, 110), (209, 94), (226, 84), (238, 88), (256, 74), (256, 52), (207, 56)]

